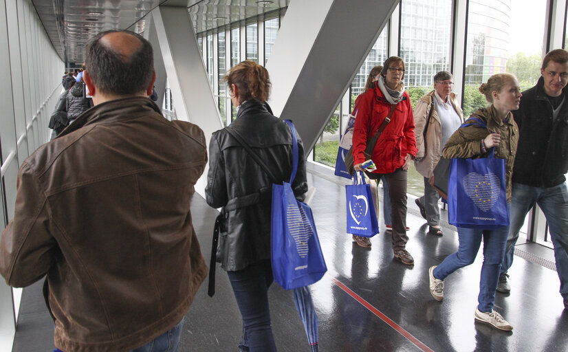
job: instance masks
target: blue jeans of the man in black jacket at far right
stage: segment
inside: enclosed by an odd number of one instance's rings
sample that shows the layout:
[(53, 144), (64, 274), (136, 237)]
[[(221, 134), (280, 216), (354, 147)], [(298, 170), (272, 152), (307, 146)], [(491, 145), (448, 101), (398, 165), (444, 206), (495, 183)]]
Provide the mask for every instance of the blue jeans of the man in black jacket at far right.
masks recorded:
[(518, 231), (521, 230), (527, 212), (532, 209), (534, 203), (537, 203), (545, 213), (548, 230), (554, 245), (556, 271), (558, 278), (560, 278), (560, 294), (565, 300), (568, 300), (568, 190), (566, 183), (548, 188), (513, 184), (511, 225), (501, 272), (507, 272), (513, 264)]

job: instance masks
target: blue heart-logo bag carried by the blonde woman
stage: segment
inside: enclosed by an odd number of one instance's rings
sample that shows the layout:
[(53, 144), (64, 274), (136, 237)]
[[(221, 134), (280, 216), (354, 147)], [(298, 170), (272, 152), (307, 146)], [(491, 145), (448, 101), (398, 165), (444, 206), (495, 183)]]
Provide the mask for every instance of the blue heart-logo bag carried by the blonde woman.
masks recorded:
[(459, 228), (491, 230), (509, 225), (505, 159), (452, 159), (448, 177), (448, 217)]

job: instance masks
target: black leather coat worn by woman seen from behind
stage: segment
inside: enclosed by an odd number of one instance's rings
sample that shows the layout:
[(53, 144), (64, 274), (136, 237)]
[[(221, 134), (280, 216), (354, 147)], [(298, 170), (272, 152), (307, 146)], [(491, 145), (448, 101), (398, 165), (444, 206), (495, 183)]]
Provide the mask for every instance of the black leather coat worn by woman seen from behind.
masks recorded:
[[(274, 173), (279, 184), (290, 181), (292, 133), (267, 105), (243, 102), (230, 124)], [(224, 270), (242, 270), (270, 259), (270, 209), (273, 181), (226, 129), (212, 134), (205, 189), (207, 203), (221, 208), (226, 228), (219, 236), (217, 257)], [(303, 199), (307, 191), (303, 144), (298, 136), (298, 173), (292, 189)], [(246, 197), (245, 197), (246, 196)], [(219, 258), (220, 257), (220, 258)]]

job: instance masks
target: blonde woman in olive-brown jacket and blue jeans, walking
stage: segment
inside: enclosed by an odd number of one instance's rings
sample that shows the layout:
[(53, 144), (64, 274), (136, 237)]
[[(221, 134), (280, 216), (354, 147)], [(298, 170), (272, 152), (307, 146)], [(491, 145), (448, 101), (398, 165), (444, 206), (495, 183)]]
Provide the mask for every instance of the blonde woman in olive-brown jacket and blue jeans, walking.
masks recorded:
[[(487, 124), (487, 128), (476, 125), (473, 119), (466, 120), (466, 124), (457, 129), (444, 146), (444, 157), (485, 157), (494, 148), (495, 157), (505, 159), (505, 184), (509, 203), (507, 211), (510, 211), (511, 178), (518, 142), (518, 127), (511, 111), (518, 109), (522, 94), (518, 81), (512, 74), (491, 76), (487, 83), (479, 87), (479, 91), (491, 105), (475, 111), (470, 119), (480, 118)], [(466, 126), (468, 122), (471, 124)], [(512, 330), (512, 325), (493, 309), (509, 226), (496, 230), (458, 228), (457, 232), (457, 252), (447, 256), (440, 265), (430, 267), (430, 294), (438, 301), (444, 299), (444, 279), (459, 268), (473, 263), (483, 239), (483, 266), (477, 297), (479, 305), (474, 317), (476, 321), (496, 329)]]

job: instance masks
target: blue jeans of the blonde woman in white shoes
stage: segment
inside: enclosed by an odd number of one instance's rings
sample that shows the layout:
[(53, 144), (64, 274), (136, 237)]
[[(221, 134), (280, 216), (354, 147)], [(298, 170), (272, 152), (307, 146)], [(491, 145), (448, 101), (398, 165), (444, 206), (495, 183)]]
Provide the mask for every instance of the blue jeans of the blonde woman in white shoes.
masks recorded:
[(459, 248), (457, 252), (446, 256), (446, 259), (434, 269), (434, 277), (444, 280), (460, 267), (473, 263), (483, 238), (483, 265), (481, 266), (481, 278), (479, 280), (479, 296), (477, 296), (479, 305), (477, 308), (483, 312), (491, 311), (499, 282), (501, 261), (503, 261), (505, 255), (508, 233), (508, 226), (496, 230), (457, 228)]

